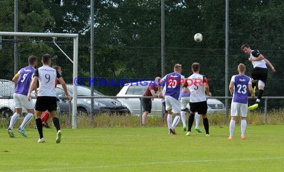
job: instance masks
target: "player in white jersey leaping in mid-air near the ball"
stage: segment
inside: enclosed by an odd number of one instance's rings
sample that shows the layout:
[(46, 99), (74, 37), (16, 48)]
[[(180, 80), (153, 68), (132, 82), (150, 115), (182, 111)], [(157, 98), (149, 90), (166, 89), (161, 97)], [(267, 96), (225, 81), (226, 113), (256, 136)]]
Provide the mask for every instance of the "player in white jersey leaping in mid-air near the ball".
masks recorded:
[(259, 52), (259, 50), (252, 50), (248, 44), (242, 45), (241, 49), (244, 53), (250, 56), (249, 61), (253, 64), (252, 71), (252, 87), (255, 90), (255, 86), (257, 81), (258, 83), (258, 97), (256, 103), (249, 107), (250, 110), (256, 109), (259, 107), (259, 102), (264, 92), (264, 87), (267, 81), (268, 70), (267, 66), (271, 67), (272, 71), (275, 72), (275, 68), (272, 66), (269, 60), (265, 59), (265, 57)]

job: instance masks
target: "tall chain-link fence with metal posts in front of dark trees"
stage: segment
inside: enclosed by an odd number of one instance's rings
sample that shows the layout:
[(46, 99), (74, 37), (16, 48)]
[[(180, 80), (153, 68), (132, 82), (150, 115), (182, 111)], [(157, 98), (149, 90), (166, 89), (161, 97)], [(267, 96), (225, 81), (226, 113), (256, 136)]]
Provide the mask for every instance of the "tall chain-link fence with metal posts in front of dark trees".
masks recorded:
[[(274, 65), (269, 69), (264, 96), (284, 96), (283, 30), (284, 2), (229, 0), (229, 78), (225, 78), (225, 0), (165, 1), (165, 73), (174, 64), (182, 64), (182, 75), (191, 64), (201, 65), (200, 73), (210, 78), (213, 96), (225, 95), (225, 81), (237, 74), (244, 63), (247, 75), (252, 64), (240, 47), (244, 43), (258, 49)], [(29, 0), (18, 2), (18, 32), (79, 33), (78, 76), (89, 87), (90, 0)], [(1, 0), (0, 31), (14, 31), (14, 4)], [(161, 1), (160, 0), (95, 0), (94, 5), (94, 88), (105, 95), (117, 95), (133, 80), (161, 77)], [(277, 22), (276, 22), (277, 21)], [(195, 33), (203, 35), (195, 42)], [(73, 64), (55, 46), (72, 59), (73, 44), (68, 38), (0, 37), (0, 79), (11, 81), (14, 66), (18, 71), (28, 65), (30, 55), (52, 55), (52, 65), (62, 67), (66, 83), (73, 83)], [(15, 59), (14, 44), (17, 44)], [(16, 64), (16, 65), (15, 65)], [(38, 63), (40, 66), (40, 63)], [(107, 86), (100, 85), (106, 80)], [(109, 84), (111, 81), (116, 84)], [(89, 92), (86, 94), (90, 95)], [(224, 99), (220, 99), (223, 103)], [(250, 100), (249, 103), (253, 103)], [(97, 102), (99, 103), (99, 102)], [(269, 99), (269, 109), (283, 108), (283, 99)]]

